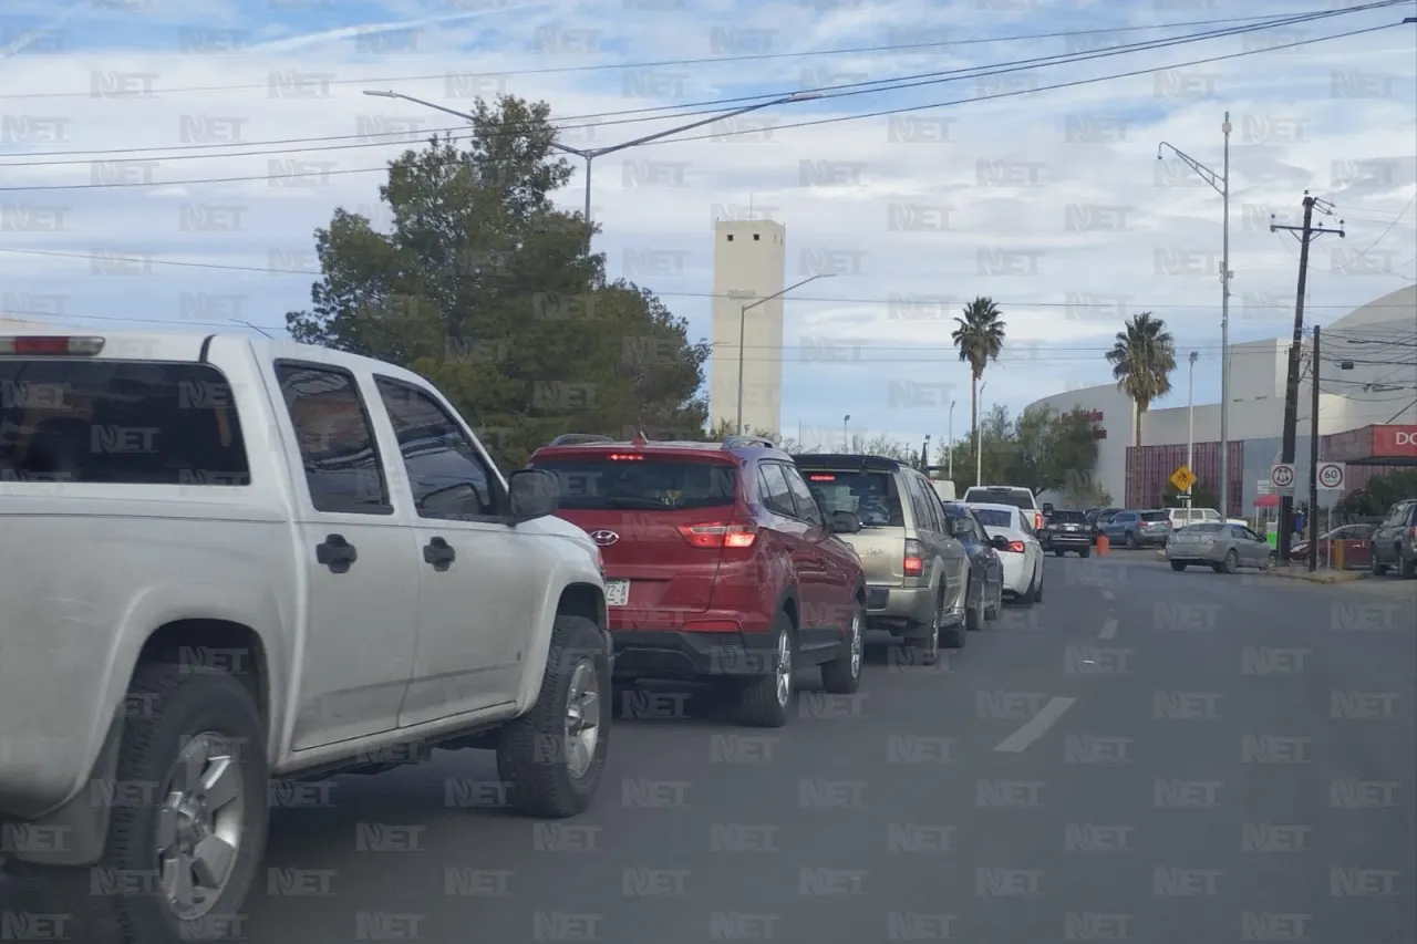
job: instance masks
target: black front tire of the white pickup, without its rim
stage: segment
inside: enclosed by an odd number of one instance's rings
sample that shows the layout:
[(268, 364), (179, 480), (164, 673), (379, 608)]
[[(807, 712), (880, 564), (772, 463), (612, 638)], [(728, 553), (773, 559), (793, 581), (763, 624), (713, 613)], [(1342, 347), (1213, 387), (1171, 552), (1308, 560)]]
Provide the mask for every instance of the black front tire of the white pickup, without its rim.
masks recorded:
[[(575, 777), (565, 727), (571, 683), (577, 669), (587, 663), (598, 686), (599, 730), (589, 764)], [(565, 819), (584, 812), (605, 772), (612, 714), (611, 665), (601, 628), (584, 617), (557, 617), (536, 704), (497, 733), (497, 772), (512, 785), (513, 804), (523, 814), (541, 819)]]

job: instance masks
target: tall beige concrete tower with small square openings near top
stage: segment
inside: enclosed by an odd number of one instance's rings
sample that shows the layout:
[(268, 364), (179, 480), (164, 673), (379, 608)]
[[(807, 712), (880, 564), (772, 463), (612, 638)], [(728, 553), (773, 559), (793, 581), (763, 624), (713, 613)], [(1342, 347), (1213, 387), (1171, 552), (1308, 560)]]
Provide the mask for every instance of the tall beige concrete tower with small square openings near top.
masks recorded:
[[(786, 227), (771, 220), (714, 224), (710, 422), (737, 421), (738, 332), (743, 327), (743, 424), (782, 429), (782, 299), (743, 313), (744, 305), (781, 292), (786, 282)], [(741, 319), (741, 322), (740, 322)]]

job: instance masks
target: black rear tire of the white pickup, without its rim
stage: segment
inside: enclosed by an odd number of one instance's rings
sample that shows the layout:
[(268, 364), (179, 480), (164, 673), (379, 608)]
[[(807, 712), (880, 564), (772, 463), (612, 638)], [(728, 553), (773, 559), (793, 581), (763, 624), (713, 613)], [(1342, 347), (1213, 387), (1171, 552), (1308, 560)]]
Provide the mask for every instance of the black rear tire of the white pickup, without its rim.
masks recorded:
[[(41, 914), (68, 914), (72, 940), (85, 944), (180, 944), (245, 937), (244, 906), (261, 859), (268, 825), (265, 721), (249, 689), (224, 672), (184, 672), (174, 665), (139, 666), (129, 687), (145, 706), (123, 721), (116, 782), (159, 784), (197, 734), (215, 733), (238, 750), (242, 788), (241, 842), (230, 879), (204, 917), (180, 920), (156, 882), (126, 893), (96, 894), (98, 875), (154, 876), (159, 860), (159, 804), (116, 805), (102, 858), (92, 866), (7, 866), (17, 879), (17, 903)], [(99, 872), (102, 870), (102, 872)], [(123, 884), (128, 884), (126, 882)], [(9, 910), (9, 909), (7, 909)]]

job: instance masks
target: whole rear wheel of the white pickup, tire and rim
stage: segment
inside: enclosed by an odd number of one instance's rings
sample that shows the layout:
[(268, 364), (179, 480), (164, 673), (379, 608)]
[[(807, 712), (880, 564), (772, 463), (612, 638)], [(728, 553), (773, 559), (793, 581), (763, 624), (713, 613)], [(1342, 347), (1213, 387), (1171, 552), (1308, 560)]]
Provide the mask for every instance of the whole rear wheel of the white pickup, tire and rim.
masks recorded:
[[(115, 805), (94, 866), (24, 866), (51, 913), (85, 944), (179, 944), (245, 937), (242, 906), (266, 839), (265, 723), (225, 673), (142, 666), (116, 782), (153, 784), (152, 802)], [(150, 876), (98, 894), (95, 876)], [(23, 879), (21, 879), (23, 880)], [(23, 894), (23, 892), (21, 892)]]

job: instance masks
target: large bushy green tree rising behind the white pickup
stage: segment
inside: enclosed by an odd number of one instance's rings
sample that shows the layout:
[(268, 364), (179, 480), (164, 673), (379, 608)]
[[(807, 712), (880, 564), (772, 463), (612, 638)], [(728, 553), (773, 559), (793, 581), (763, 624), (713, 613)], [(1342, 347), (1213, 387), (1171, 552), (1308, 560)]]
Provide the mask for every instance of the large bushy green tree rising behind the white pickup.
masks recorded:
[(561, 432), (701, 435), (708, 346), (649, 291), (608, 282), (587, 224), (554, 207), (571, 177), (550, 106), (478, 101), (472, 139), (390, 162), (391, 231), (337, 208), (296, 340), (434, 381), (503, 468)]

